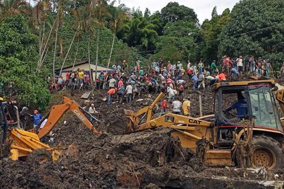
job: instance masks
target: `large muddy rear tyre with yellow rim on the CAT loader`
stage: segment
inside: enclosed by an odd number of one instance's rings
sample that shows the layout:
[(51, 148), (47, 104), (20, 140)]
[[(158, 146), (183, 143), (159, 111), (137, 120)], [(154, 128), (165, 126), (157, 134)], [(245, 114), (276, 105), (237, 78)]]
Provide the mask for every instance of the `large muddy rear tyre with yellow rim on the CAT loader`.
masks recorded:
[(281, 168), (283, 153), (280, 143), (269, 136), (254, 136), (252, 139), (252, 166)]

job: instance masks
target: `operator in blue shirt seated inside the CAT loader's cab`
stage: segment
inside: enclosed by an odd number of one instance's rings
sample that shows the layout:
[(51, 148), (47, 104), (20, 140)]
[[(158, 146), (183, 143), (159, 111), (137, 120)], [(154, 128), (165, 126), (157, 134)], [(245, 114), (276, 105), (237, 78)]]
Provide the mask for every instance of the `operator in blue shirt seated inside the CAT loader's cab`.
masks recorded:
[(225, 113), (228, 114), (230, 110), (237, 109), (237, 118), (239, 120), (242, 120), (248, 114), (248, 103), (246, 103), (244, 96), (241, 95), (240, 93), (238, 93), (237, 96), (238, 96), (237, 102), (233, 103), (233, 105), (231, 105), (230, 108), (225, 110)]

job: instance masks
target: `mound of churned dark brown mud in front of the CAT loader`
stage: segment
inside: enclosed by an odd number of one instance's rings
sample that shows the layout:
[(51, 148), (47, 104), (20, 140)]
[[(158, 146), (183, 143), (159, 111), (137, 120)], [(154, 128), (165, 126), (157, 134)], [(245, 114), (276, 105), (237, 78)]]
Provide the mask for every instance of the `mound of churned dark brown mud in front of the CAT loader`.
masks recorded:
[(85, 146), (78, 147), (78, 160), (43, 165), (1, 160), (0, 188), (139, 188), (150, 181), (167, 183), (180, 177), (180, 166), (187, 174), (194, 173), (189, 164), (193, 154), (182, 149), (178, 139), (167, 132), (167, 129), (149, 130), (101, 140), (86, 137), (89, 144), (84, 141)]

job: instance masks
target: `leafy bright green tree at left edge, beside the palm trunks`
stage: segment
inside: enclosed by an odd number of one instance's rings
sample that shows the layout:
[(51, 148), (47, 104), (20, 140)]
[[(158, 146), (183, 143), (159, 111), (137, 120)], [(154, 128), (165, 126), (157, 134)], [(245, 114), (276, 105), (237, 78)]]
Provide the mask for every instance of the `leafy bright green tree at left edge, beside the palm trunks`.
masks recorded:
[(50, 96), (43, 73), (36, 72), (37, 40), (21, 14), (3, 20), (0, 26), (0, 82), (12, 85), (12, 91), (27, 105), (44, 109)]

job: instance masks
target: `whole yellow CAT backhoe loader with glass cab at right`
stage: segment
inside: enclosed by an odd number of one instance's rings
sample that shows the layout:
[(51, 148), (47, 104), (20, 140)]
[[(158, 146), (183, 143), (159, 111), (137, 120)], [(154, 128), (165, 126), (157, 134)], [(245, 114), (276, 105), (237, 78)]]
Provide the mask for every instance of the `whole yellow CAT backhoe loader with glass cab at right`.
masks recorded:
[[(129, 118), (128, 130), (166, 127), (171, 129), (171, 136), (180, 138), (182, 147), (194, 152), (196, 142), (204, 138), (209, 142), (206, 164), (233, 166), (240, 164), (235, 158), (235, 142), (244, 138), (249, 123), (252, 127), (252, 166), (281, 168), (284, 160), (284, 119), (279, 116), (276, 99), (284, 112), (284, 89), (276, 93), (275, 99), (275, 82), (270, 79), (222, 82), (214, 84), (212, 90), (213, 115), (192, 118), (167, 113), (153, 118), (153, 108), (164, 97), (161, 93), (151, 105), (138, 112), (124, 111)], [(236, 108), (240, 101), (243, 107)]]

